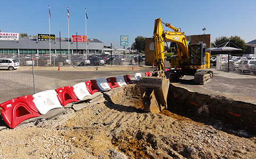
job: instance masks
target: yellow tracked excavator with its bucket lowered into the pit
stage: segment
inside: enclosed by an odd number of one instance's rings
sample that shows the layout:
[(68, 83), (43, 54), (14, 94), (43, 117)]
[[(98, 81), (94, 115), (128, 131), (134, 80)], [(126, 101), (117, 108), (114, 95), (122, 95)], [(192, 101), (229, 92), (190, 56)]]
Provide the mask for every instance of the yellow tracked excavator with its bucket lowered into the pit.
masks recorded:
[[(173, 31), (164, 30), (162, 23)], [(194, 75), (195, 84), (204, 84), (212, 78), (213, 73), (211, 70), (203, 70), (206, 68), (206, 61), (210, 60), (209, 53), (206, 52), (206, 44), (187, 45), (185, 33), (172, 24), (161, 22), (160, 18), (156, 19), (153, 38), (156, 70), (150, 77), (141, 77), (139, 87), (144, 111), (158, 113), (167, 109), (169, 81), (177, 80), (184, 75)], [(165, 42), (176, 43), (175, 53), (170, 58), (171, 69), (167, 71), (164, 63)]]

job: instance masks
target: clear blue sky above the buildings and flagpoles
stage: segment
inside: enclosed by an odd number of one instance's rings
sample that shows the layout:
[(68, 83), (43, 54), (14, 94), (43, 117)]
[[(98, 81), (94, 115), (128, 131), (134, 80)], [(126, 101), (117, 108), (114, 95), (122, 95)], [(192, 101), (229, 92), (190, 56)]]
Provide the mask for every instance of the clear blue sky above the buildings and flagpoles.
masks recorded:
[[(1, 0), (1, 32), (49, 33), (48, 5), (50, 5), (50, 33), (67, 38), (67, 6), (70, 11), (70, 36), (85, 35), (87, 8), (88, 38), (99, 39), (104, 45), (120, 46), (120, 36), (129, 36), (129, 46), (137, 36), (152, 37), (156, 18), (182, 28), (187, 36), (211, 34), (211, 41), (221, 36), (239, 36), (245, 42), (256, 39), (256, 1), (238, 0)], [(167, 29), (167, 28), (165, 28)], [(169, 30), (169, 29), (167, 29)]]

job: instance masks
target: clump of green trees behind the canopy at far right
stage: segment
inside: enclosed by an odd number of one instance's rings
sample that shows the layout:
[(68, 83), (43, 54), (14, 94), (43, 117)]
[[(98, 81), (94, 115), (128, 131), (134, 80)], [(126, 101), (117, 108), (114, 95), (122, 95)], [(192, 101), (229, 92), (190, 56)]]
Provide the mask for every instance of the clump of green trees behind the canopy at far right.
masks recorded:
[(233, 43), (235, 46), (231, 46), (231, 47), (239, 47), (240, 49), (242, 49), (243, 52), (245, 52), (247, 46), (245, 45), (245, 41), (243, 39), (241, 39), (238, 36), (231, 36), (230, 38), (228, 37), (218, 37), (215, 39), (214, 42), (211, 43), (211, 47), (214, 47), (216, 45), (219, 45), (221, 43), (224, 42), (228, 42), (231, 41), (231, 43)]

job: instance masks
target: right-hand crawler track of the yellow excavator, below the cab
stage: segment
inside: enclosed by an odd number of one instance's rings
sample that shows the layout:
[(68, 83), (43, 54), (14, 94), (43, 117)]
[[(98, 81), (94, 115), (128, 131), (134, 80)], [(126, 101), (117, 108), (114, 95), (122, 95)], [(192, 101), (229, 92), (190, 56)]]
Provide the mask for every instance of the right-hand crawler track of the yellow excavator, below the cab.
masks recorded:
[(194, 84), (205, 84), (211, 80), (214, 73), (211, 70), (200, 70), (194, 74)]

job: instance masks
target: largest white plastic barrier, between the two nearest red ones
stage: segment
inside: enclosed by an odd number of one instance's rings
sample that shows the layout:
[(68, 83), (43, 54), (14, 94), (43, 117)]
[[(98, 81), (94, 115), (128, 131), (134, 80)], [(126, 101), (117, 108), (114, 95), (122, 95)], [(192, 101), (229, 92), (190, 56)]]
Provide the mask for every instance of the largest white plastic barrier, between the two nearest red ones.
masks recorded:
[(54, 108), (62, 108), (55, 90), (42, 91), (32, 96), (34, 98), (33, 102), (40, 114), (46, 114), (49, 110)]

